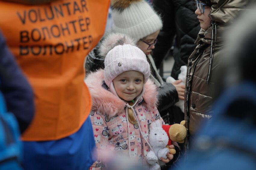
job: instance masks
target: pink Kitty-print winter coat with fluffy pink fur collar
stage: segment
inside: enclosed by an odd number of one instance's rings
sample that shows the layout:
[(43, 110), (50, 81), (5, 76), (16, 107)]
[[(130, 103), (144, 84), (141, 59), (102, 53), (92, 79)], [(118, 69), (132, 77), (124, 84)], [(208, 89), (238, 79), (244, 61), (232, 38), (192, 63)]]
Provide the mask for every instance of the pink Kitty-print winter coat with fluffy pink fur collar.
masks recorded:
[(92, 95), (92, 111), (89, 116), (98, 152), (98, 160), (92, 164), (91, 169), (105, 167), (101, 161), (101, 152), (106, 148), (114, 151), (114, 155), (126, 155), (135, 158), (140, 165), (144, 163), (144, 167), (148, 166), (145, 157), (149, 146), (142, 135), (148, 140), (149, 125), (155, 120), (162, 120), (156, 107), (157, 88), (151, 80), (145, 83), (145, 93), (134, 108), (139, 123), (133, 125), (126, 118), (126, 103), (104, 87), (103, 75), (104, 70), (98, 70), (89, 74), (85, 80)]

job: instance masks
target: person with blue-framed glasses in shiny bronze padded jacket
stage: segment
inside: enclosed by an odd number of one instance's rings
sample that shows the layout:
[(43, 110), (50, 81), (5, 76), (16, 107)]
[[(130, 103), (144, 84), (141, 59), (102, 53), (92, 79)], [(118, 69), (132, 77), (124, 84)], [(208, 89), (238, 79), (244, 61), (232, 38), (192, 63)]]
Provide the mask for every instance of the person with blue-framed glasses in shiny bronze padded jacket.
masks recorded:
[[(201, 30), (195, 41), (194, 52), (189, 56), (185, 88), (185, 120), (188, 135), (185, 140), (185, 153), (189, 156), (190, 144), (194, 142), (197, 130), (203, 121), (209, 122), (214, 116), (211, 109), (217, 91), (217, 78), (224, 46), (223, 31), (246, 5), (252, 0), (201, 0), (195, 1), (195, 14), (200, 22)], [(225, 17), (224, 17), (225, 16)]]

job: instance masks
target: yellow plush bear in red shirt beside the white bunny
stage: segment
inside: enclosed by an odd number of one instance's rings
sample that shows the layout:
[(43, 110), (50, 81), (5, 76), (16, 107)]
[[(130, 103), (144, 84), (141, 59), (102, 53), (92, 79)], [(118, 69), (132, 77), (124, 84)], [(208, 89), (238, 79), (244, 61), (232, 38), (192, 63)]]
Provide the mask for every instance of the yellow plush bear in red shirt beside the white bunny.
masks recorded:
[[(172, 145), (172, 141), (184, 143), (184, 139), (187, 136), (187, 129), (184, 126), (186, 121), (181, 121), (180, 124), (173, 124), (173, 125), (162, 125), (162, 128), (167, 133), (169, 137), (168, 145), (166, 146), (169, 148), (169, 145)], [(170, 154), (176, 154), (175, 149), (170, 149)]]

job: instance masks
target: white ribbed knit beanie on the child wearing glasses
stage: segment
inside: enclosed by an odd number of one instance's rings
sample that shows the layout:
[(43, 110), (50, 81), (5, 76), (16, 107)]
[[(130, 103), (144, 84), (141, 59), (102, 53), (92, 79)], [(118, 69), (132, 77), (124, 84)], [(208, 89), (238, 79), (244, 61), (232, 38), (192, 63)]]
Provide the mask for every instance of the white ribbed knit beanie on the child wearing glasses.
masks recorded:
[(137, 42), (162, 28), (161, 18), (147, 2), (132, 1), (128, 7), (120, 9), (118, 5), (123, 5), (125, 1), (127, 0), (114, 1), (113, 30), (130, 35)]

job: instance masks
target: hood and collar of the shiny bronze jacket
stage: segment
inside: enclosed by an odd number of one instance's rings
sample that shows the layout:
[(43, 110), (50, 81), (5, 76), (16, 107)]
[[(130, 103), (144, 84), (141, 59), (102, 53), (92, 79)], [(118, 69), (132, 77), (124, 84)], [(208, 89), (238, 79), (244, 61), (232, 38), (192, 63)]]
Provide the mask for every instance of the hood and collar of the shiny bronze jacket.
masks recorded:
[[(249, 4), (254, 0), (211, 0), (211, 12), (209, 17), (217, 25), (216, 43), (223, 41), (222, 33), (229, 29), (233, 24), (234, 19), (243, 11), (249, 9)], [(204, 43), (211, 43), (212, 28), (207, 30), (201, 29), (198, 33), (195, 43), (199, 44), (200, 41)]]

